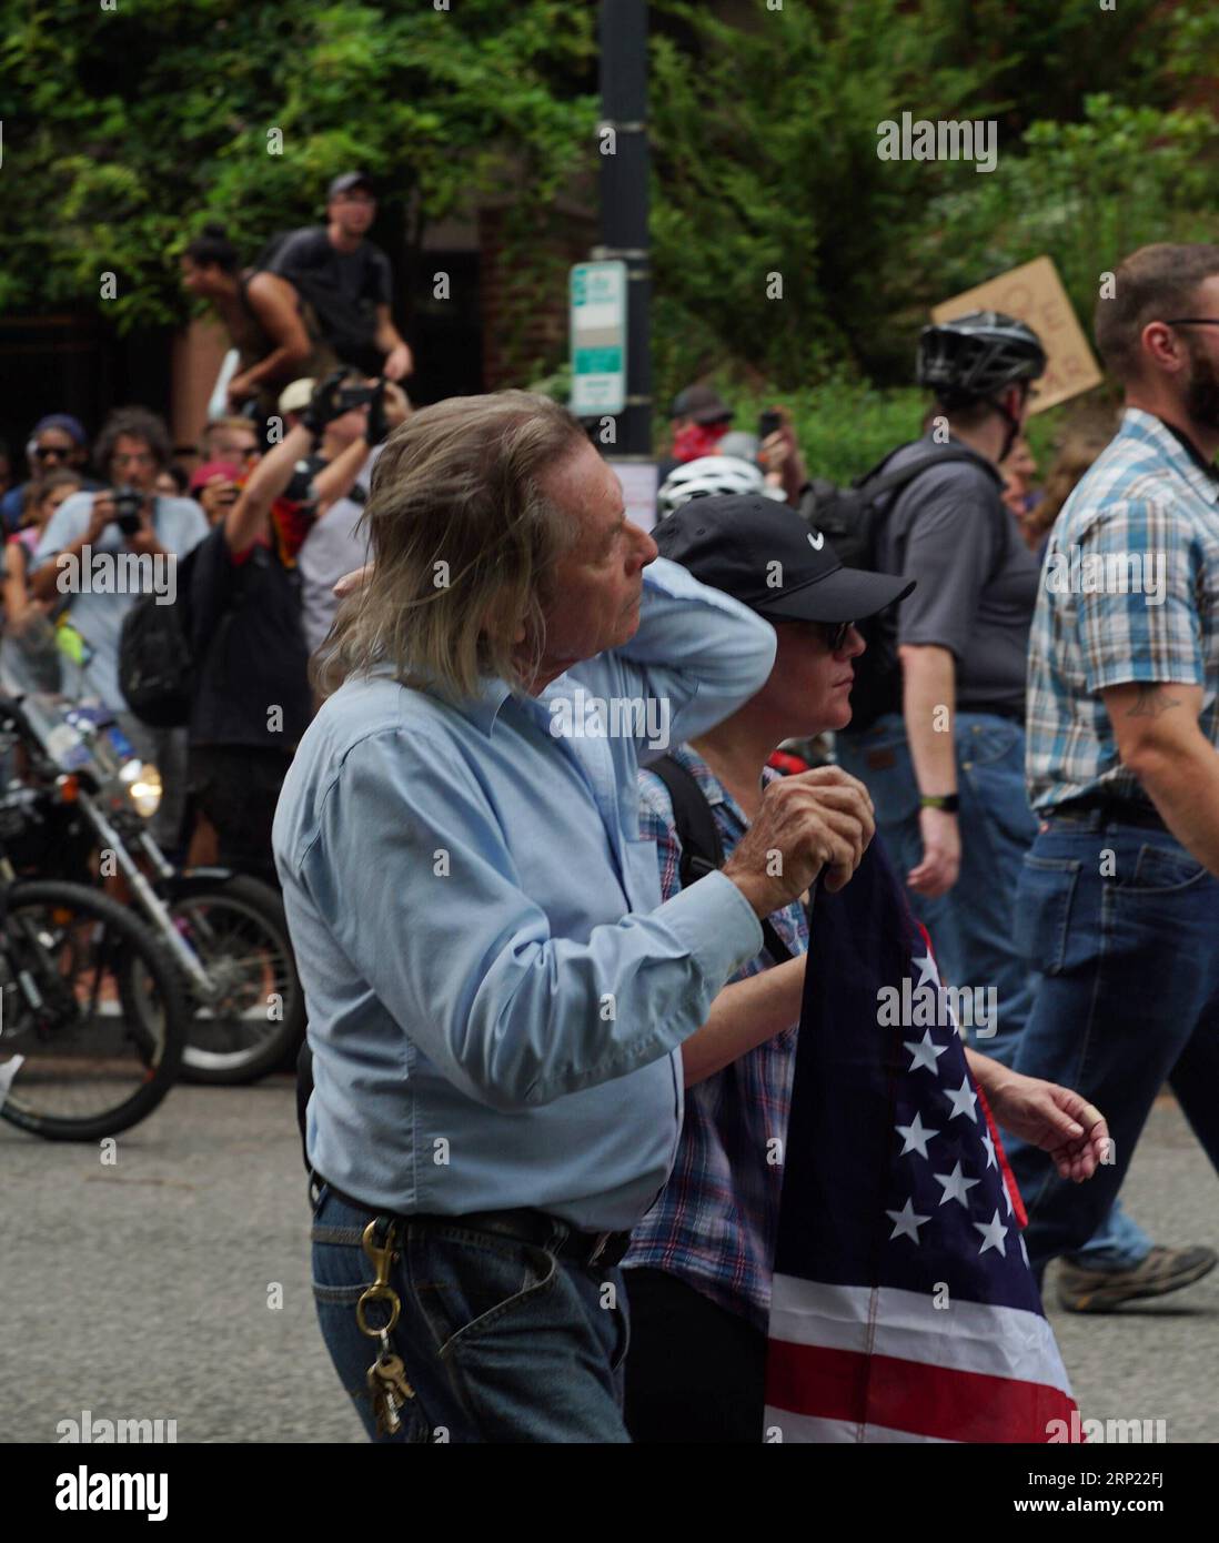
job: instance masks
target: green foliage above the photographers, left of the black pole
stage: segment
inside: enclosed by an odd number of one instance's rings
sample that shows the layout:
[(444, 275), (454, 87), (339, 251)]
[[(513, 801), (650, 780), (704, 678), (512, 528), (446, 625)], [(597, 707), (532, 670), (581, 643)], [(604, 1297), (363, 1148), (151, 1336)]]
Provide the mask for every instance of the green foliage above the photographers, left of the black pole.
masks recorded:
[(327, 179), (353, 165), (392, 190), (390, 219), (417, 241), (471, 196), (545, 208), (589, 159), (588, 6), (114, 5), (8, 8), (8, 313), (96, 304), (113, 272), (120, 327), (182, 319), (176, 256), (207, 214), (253, 256), (316, 219)]

